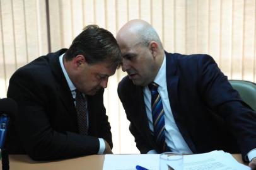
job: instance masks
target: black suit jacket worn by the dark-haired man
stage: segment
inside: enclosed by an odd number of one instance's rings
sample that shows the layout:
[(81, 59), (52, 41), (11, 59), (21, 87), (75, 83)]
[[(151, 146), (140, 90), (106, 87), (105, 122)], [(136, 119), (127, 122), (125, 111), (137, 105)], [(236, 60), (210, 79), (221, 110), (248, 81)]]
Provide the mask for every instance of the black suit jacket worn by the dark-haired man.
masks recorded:
[(88, 96), (88, 135), (78, 134), (73, 96), (59, 63), (65, 51), (38, 57), (11, 77), (8, 97), (16, 100), (19, 113), (8, 133), (9, 153), (28, 154), (35, 160), (96, 154), (98, 137), (112, 147), (103, 89)]

